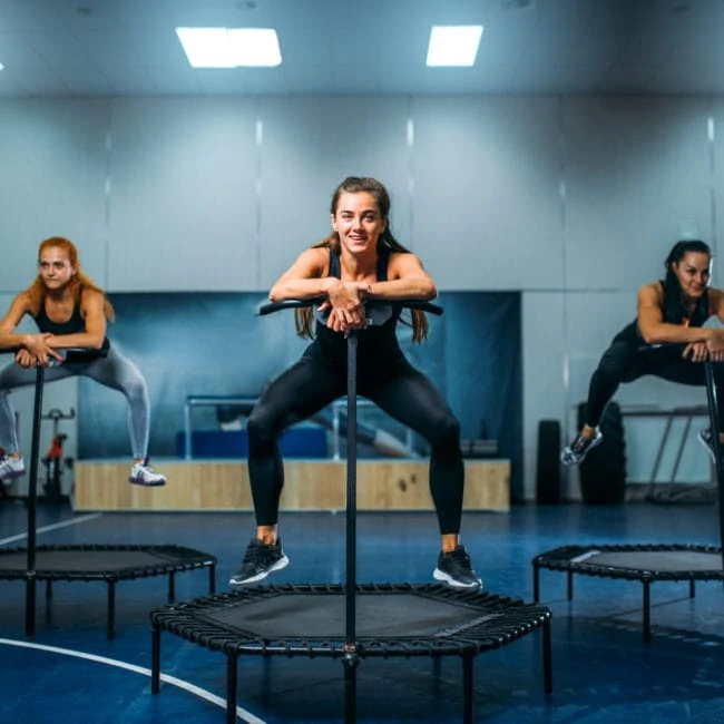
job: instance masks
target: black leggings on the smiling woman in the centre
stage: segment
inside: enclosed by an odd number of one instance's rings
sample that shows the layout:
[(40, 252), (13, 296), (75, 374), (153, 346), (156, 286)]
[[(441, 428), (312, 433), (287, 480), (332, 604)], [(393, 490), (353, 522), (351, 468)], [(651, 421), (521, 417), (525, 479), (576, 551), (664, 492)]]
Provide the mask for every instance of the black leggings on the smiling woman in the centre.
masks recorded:
[[(364, 362), (362, 363), (364, 364)], [(464, 469), (460, 423), (430, 380), (404, 358), (385, 362), (382, 374), (358, 374), (358, 392), (431, 446), (430, 492), (441, 534), (460, 531)], [(278, 520), (284, 467), (280, 434), (346, 393), (346, 371), (304, 356), (264, 391), (248, 418), (248, 474), (257, 526)]]

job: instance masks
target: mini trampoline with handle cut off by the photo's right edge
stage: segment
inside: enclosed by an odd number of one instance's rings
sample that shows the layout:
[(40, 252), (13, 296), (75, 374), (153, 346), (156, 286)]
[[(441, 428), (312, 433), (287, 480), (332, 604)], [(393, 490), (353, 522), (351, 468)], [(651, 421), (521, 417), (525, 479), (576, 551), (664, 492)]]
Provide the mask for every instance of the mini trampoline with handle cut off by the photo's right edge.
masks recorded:
[[(657, 350), (666, 351), (673, 344), (653, 344), (642, 348), (648, 354)], [(713, 363), (704, 362), (706, 399), (708, 403), (712, 430), (718, 431), (718, 401), (714, 380)], [(715, 436), (718, 440), (718, 436)], [(724, 481), (722, 478), (721, 444), (715, 446), (715, 466), (718, 499), (724, 500)], [(540, 600), (540, 569), (566, 571), (568, 575), (568, 599), (574, 596), (574, 574), (638, 580), (643, 584), (644, 640), (652, 637), (650, 630), (650, 584), (657, 580), (686, 580), (689, 584), (689, 597), (695, 595), (697, 580), (724, 580), (723, 551), (724, 511), (718, 506), (720, 546), (713, 545), (589, 545), (561, 546), (535, 556), (534, 600)]]

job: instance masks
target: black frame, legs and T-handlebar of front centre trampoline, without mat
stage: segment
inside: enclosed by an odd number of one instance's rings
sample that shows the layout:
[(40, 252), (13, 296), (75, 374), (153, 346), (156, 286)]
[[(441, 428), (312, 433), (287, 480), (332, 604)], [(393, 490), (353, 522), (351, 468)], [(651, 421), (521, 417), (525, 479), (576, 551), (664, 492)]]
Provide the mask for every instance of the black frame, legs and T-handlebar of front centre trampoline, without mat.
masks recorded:
[[(280, 310), (300, 309), (305, 306), (316, 306), (322, 302), (320, 299), (312, 300), (287, 300), (283, 302), (272, 302), (263, 304), (260, 310), (260, 315), (271, 314)], [(394, 305), (403, 306), (409, 310), (420, 310), (431, 314), (442, 314), (442, 309), (429, 302), (421, 302), (418, 300), (397, 300), (394, 303), (381, 302), (374, 305), (373, 315), (370, 319), (371, 324), (381, 324), (392, 313)], [(385, 309), (387, 307), (387, 309)], [(387, 316), (384, 316), (387, 314)], [(432, 656), (440, 657), (444, 655), (456, 654), (460, 655), (463, 662), (462, 684), (463, 684), (463, 721), (466, 724), (473, 722), (473, 678), (472, 678), (472, 659), (482, 650), (490, 648), (499, 648), (506, 643), (516, 640), (520, 636), (532, 632), (536, 628), (542, 627), (544, 629), (544, 687), (546, 694), (552, 692), (552, 667), (550, 655), (550, 609), (544, 606), (526, 605), (510, 598), (501, 598), (491, 594), (480, 593), (478, 590), (464, 589), (448, 589), (443, 586), (412, 586), (403, 585), (401, 589), (405, 591), (424, 591), (430, 595), (433, 590), (436, 595), (441, 595), (444, 591), (447, 598), (464, 599), (472, 601), (476, 598), (479, 601), (488, 600), (507, 601), (511, 607), (518, 610), (529, 610), (534, 613), (532, 618), (520, 625), (519, 629), (515, 630), (515, 635), (503, 635), (495, 637), (493, 640), (485, 642), (468, 642), (463, 646), (446, 647), (421, 647), (419, 652), (414, 648), (402, 647), (399, 650), (379, 647), (372, 640), (359, 638), (356, 634), (356, 594), (366, 591), (365, 586), (371, 586), (378, 593), (383, 590), (398, 590), (398, 587), (392, 584), (365, 584), (359, 585), (356, 583), (356, 354), (358, 354), (358, 335), (352, 332), (348, 335), (348, 365), (346, 365), (346, 399), (348, 399), (348, 433), (346, 433), (346, 546), (345, 546), (345, 584), (344, 585), (330, 585), (330, 584), (306, 584), (303, 587), (275, 587), (275, 586), (253, 586), (243, 588), (232, 594), (226, 594), (216, 597), (211, 601), (199, 599), (189, 604), (182, 604), (169, 608), (162, 608), (151, 613), (151, 694), (158, 694), (160, 691), (160, 632), (162, 629), (169, 630), (187, 640), (221, 650), (226, 655), (226, 721), (232, 724), (236, 721), (236, 698), (237, 698), (237, 659), (238, 656), (244, 654), (255, 655), (284, 655), (295, 656), (305, 654), (310, 657), (313, 656), (333, 656), (340, 658), (344, 666), (344, 722), (345, 724), (354, 724), (356, 722), (356, 668), (362, 658), (370, 656), (393, 656), (400, 655), (405, 657), (411, 656)], [(311, 591), (329, 591), (336, 590), (337, 594), (343, 594), (345, 599), (345, 635), (344, 640), (331, 639), (321, 646), (312, 646), (309, 644), (301, 644), (301, 639), (295, 642), (294, 645), (287, 643), (277, 643), (271, 645), (260, 637), (251, 635), (248, 632), (245, 637), (241, 638), (232, 635), (233, 632), (229, 627), (211, 626), (207, 622), (203, 625), (198, 624), (193, 612), (196, 612), (207, 605), (217, 606), (223, 601), (235, 600), (244, 597), (258, 598), (265, 595), (284, 595), (285, 593), (299, 593), (300, 590)], [(198, 624), (198, 628), (196, 625)], [(237, 632), (238, 633), (238, 632)], [(243, 632), (241, 632), (243, 634)], [(323, 637), (322, 637), (323, 638)], [(397, 637), (395, 637), (397, 638)], [(421, 643), (420, 637), (414, 638), (417, 644)]]

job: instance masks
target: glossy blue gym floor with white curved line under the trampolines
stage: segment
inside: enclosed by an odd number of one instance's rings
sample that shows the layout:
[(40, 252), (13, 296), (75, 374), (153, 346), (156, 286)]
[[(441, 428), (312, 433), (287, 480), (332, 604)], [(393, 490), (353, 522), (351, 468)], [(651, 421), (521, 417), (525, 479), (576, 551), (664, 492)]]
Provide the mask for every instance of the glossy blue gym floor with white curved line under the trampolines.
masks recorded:
[[(0, 542), (25, 547), (22, 502), (0, 505)], [(218, 558), (227, 589), (253, 531), (250, 513), (84, 513), (40, 507), (38, 545), (176, 544)], [(342, 581), (344, 516), (283, 513), (291, 559), (278, 583)], [(360, 581), (431, 583), (438, 536), (432, 513), (360, 513)], [(532, 600), (530, 560), (567, 544), (718, 545), (715, 506), (628, 503), (516, 507), (467, 513), (463, 542), (488, 590)], [(542, 689), (541, 632), (476, 658), (476, 721), (609, 724), (724, 722), (724, 591), (698, 583), (652, 586), (653, 640), (642, 639), (642, 585), (541, 571), (552, 613), (554, 694)], [(166, 604), (167, 578), (117, 585), (116, 638), (106, 638), (106, 584), (38, 587), (37, 633), (25, 637), (25, 584), (0, 580), (0, 723), (143, 724), (225, 721), (223, 654), (164, 632), (158, 696), (149, 687), (149, 612)], [(207, 571), (176, 576), (178, 601), (208, 593)], [(342, 722), (337, 661), (242, 657), (238, 720), (257, 724)], [(460, 722), (457, 658), (366, 659), (358, 674), (358, 722)]]

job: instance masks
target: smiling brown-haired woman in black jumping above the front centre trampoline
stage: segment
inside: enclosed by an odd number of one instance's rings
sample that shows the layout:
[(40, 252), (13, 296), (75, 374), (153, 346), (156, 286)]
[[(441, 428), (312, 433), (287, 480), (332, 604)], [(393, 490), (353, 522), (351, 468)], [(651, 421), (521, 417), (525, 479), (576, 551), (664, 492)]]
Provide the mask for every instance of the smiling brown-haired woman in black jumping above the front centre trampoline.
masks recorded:
[[(346, 178), (332, 197), (332, 234), (304, 251), (274, 284), (273, 302), (324, 297), (314, 341), (302, 359), (264, 391), (248, 422), (248, 471), (256, 513), (251, 541), (232, 585), (265, 578), (288, 564), (277, 536), (278, 506), (284, 485), (277, 440), (291, 424), (310, 418), (346, 393), (346, 341), (358, 331), (358, 390), (394, 419), (424, 437), (432, 449), (430, 490), (438, 513), (441, 550), (436, 579), (459, 588), (481, 581), (460, 545), (464, 471), (460, 425), (430, 381), (404, 358), (397, 340), (400, 317), (370, 325), (365, 300), (431, 300), (433, 281), (420, 261), (392, 236), (390, 197), (374, 178)], [(297, 332), (312, 336), (311, 309), (297, 311)], [(415, 342), (427, 335), (427, 320), (412, 312)]]

